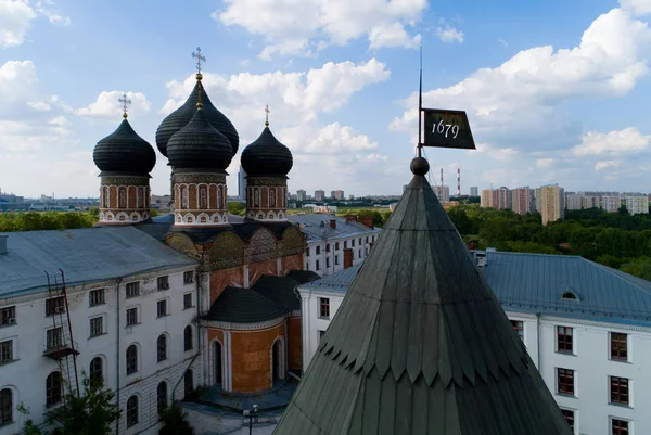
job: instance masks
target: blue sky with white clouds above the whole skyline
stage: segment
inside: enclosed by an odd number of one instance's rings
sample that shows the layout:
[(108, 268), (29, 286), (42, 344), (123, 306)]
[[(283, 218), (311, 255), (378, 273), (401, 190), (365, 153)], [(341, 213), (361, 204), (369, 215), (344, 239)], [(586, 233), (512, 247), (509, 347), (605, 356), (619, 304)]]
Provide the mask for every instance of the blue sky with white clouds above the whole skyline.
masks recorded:
[[(0, 189), (98, 196), (122, 120), (155, 148), (204, 86), (240, 135), (265, 105), (291, 191), (400, 194), (423, 105), (468, 113), (477, 150), (425, 149), (433, 183), (651, 192), (651, 0), (0, 0)], [(169, 191), (157, 151), (152, 192)]]

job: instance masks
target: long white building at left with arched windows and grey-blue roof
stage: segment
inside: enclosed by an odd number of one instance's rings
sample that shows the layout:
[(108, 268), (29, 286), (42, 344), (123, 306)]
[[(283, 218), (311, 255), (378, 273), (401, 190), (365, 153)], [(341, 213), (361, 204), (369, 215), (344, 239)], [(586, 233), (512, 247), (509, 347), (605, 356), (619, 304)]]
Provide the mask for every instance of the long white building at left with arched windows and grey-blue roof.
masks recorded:
[[(132, 227), (7, 235), (0, 238), (7, 242), (0, 252), (0, 435), (20, 433), (27, 419), (40, 424), (62, 404), (62, 384), (76, 385), (73, 345), (79, 383), (84, 371), (102, 375), (116, 392), (119, 433), (157, 434), (158, 404), (181, 399), (203, 379), (196, 261)], [(59, 268), (67, 300), (49, 290), (43, 272), (61, 282)]]

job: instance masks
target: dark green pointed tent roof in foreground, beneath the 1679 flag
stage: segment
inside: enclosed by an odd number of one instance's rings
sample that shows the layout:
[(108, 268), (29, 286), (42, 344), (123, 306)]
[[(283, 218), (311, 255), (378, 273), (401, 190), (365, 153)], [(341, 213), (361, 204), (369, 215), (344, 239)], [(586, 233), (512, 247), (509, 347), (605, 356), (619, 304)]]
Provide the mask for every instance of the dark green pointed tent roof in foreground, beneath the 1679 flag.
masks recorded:
[(572, 434), (417, 163), (273, 433)]

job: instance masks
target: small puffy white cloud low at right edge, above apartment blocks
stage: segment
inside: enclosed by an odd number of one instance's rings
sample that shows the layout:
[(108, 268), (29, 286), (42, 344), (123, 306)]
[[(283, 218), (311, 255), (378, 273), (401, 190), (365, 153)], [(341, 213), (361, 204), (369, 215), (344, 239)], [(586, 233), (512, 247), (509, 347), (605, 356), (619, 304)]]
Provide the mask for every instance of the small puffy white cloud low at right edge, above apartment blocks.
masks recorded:
[(637, 127), (628, 127), (608, 133), (589, 131), (580, 138), (580, 142), (572, 149), (576, 156), (639, 153), (651, 143), (651, 135), (642, 135)]

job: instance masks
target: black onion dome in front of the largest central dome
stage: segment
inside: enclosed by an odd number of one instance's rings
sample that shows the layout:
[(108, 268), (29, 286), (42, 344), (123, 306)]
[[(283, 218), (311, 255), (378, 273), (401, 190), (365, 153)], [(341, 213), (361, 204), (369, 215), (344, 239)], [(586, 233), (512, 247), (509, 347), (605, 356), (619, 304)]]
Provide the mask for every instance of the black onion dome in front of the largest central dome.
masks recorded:
[(226, 169), (233, 158), (231, 143), (195, 110), (188, 125), (169, 138), (167, 158), (173, 168)]

